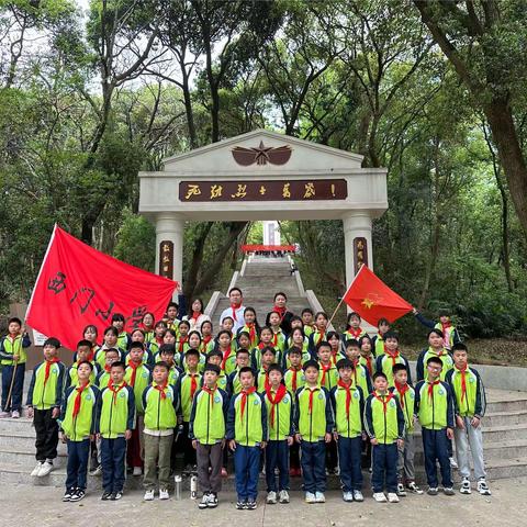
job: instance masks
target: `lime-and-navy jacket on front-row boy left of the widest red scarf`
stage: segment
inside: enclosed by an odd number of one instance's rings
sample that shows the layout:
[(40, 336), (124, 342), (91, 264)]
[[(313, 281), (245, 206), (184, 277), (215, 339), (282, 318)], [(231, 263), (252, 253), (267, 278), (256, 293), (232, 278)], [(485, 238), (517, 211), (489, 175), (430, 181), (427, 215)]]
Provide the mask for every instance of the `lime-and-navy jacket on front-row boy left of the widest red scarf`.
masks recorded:
[(267, 441), (267, 406), (264, 395), (254, 392), (247, 395), (244, 415), (242, 416), (243, 392), (231, 397), (227, 413), (227, 439), (239, 445), (256, 447)]

